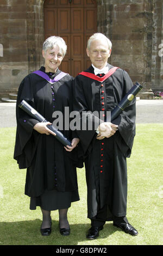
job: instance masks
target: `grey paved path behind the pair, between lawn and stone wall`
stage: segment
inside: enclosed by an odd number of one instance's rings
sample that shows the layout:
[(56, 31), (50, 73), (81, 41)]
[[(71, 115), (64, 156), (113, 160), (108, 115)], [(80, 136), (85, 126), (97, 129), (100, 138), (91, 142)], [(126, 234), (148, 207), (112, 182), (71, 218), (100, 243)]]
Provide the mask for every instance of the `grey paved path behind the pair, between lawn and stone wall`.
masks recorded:
[[(16, 126), (16, 103), (0, 103), (0, 127)], [(163, 100), (137, 100), (136, 123), (163, 123)]]

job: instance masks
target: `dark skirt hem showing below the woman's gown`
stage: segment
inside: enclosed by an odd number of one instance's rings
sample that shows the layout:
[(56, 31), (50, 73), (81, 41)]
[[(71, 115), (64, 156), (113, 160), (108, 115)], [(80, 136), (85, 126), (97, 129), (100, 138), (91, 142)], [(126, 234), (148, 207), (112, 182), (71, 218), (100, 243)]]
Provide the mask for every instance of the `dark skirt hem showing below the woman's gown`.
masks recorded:
[(39, 197), (30, 197), (30, 210), (36, 210), (36, 206), (40, 206), (43, 210), (47, 211), (66, 209), (70, 208), (72, 202), (78, 200), (78, 190), (72, 192), (45, 190)]

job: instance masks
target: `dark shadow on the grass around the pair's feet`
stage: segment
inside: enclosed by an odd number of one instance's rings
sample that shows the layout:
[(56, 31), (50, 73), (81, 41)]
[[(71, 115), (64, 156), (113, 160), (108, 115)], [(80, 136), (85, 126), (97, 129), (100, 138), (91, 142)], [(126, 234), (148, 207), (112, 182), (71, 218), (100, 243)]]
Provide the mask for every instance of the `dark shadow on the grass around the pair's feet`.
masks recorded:
[[(70, 224), (70, 236), (62, 236), (59, 232), (58, 221), (52, 220), (52, 233), (49, 236), (42, 236), (40, 233), (41, 220), (0, 222), (0, 245), (78, 245), (85, 241), (85, 245), (91, 245), (92, 240), (86, 239), (86, 231), (90, 224)], [(105, 224), (100, 232), (96, 245), (100, 239), (109, 237), (117, 229), (111, 224)], [(93, 240), (94, 241), (94, 240)]]

